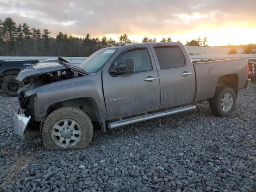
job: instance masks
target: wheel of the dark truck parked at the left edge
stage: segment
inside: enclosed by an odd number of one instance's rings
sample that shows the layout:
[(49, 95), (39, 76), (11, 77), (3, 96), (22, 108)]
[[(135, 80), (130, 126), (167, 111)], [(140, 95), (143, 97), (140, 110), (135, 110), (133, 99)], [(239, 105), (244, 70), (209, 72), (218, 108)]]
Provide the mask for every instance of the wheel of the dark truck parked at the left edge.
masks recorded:
[(22, 81), (17, 81), (15, 77), (8, 77), (2, 82), (2, 90), (5, 95), (10, 97), (16, 97), (18, 90), (24, 87)]

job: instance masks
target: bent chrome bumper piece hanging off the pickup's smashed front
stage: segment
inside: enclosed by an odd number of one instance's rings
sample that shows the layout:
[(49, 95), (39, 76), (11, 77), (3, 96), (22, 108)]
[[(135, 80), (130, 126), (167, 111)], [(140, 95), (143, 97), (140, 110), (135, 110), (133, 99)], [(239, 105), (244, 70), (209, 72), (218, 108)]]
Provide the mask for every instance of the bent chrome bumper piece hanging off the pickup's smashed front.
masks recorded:
[(19, 136), (24, 137), (25, 130), (30, 122), (31, 116), (26, 117), (24, 114), (20, 113), (18, 110), (17, 114), (14, 114), (14, 133), (18, 134)]

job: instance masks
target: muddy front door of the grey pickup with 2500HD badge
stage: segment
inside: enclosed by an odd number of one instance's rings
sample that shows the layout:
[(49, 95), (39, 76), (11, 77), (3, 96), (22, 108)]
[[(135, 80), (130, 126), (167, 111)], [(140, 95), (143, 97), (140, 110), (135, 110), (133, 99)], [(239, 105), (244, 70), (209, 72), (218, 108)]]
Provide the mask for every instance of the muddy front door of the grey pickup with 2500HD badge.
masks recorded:
[(112, 63), (116, 65), (124, 58), (134, 58), (134, 74), (113, 76), (104, 68), (102, 79), (108, 119), (159, 109), (159, 77), (150, 54), (147, 47), (136, 48), (120, 54)]

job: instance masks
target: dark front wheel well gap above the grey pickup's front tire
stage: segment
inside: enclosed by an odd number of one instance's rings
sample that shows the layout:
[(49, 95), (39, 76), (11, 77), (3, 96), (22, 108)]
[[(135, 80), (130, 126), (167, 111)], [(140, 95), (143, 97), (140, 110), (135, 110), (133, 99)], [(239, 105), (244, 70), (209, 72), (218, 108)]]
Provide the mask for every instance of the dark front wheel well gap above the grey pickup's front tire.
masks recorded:
[(99, 122), (102, 131), (106, 132), (106, 122), (105, 118), (102, 114), (100, 114), (100, 110), (98, 108), (98, 104), (91, 97), (82, 97), (82, 98), (74, 98), (70, 100), (64, 100), (61, 102), (57, 102), (48, 107), (45, 118), (54, 110), (61, 107), (76, 107), (80, 108), (84, 111), (90, 119), (94, 122)]

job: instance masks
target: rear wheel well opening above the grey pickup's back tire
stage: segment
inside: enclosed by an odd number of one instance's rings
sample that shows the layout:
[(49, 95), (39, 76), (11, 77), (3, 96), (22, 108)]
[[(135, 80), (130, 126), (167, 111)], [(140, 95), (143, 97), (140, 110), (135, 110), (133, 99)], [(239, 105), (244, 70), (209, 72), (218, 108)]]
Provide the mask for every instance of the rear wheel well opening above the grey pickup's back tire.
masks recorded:
[(220, 87), (220, 86), (231, 87), (234, 89), (237, 95), (238, 84), (239, 84), (238, 74), (227, 74), (218, 78), (216, 87)]

